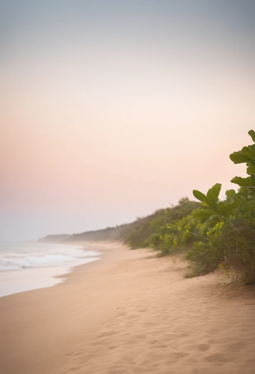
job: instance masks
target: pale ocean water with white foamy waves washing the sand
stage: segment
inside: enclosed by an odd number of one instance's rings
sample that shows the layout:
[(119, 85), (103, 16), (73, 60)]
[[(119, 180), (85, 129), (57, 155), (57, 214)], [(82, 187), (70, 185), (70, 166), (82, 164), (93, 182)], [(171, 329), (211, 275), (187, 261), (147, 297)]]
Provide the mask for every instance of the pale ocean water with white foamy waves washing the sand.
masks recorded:
[(65, 278), (56, 276), (99, 260), (100, 254), (81, 245), (0, 243), (0, 297), (61, 283)]

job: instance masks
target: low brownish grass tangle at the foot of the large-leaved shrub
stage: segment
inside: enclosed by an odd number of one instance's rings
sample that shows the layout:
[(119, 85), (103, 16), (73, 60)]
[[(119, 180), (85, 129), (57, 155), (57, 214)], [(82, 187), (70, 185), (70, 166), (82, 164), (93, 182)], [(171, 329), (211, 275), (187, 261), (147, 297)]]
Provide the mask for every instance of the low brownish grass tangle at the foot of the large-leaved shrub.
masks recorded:
[(255, 286), (255, 230), (251, 224), (236, 222), (222, 230), (210, 243), (196, 243), (187, 259), (195, 260), (186, 278), (209, 273), (218, 266), (218, 291)]

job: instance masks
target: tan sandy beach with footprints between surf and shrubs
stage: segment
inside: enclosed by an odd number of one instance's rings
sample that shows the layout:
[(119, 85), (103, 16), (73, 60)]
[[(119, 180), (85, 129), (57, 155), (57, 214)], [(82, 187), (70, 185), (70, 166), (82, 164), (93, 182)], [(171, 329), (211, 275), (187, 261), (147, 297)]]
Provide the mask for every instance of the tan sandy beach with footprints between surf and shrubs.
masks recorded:
[(66, 282), (0, 298), (1, 373), (254, 373), (249, 289), (219, 298), (173, 257), (92, 246)]

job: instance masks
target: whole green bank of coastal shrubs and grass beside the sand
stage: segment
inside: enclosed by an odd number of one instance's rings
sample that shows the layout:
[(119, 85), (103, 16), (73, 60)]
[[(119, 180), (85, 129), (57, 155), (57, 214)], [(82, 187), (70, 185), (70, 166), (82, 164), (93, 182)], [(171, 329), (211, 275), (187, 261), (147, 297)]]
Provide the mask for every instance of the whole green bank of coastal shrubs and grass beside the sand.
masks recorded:
[[(249, 131), (255, 143), (255, 132)], [(234, 177), (239, 187), (219, 199), (221, 184), (204, 194), (193, 190), (201, 203), (183, 198), (179, 204), (155, 212), (146, 222), (137, 221), (125, 242), (135, 249), (150, 247), (158, 257), (183, 253), (191, 261), (186, 277), (222, 270), (226, 287), (255, 283), (255, 144), (230, 154), (235, 163), (246, 163), (247, 178)]]

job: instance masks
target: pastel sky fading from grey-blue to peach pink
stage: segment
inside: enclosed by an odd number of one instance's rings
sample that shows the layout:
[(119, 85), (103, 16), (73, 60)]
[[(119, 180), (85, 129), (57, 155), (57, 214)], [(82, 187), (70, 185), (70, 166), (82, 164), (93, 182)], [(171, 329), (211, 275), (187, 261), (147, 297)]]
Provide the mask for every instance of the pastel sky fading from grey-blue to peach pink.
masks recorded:
[(255, 2), (0, 1), (0, 240), (128, 223), (246, 176)]

